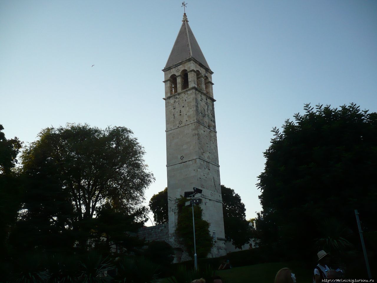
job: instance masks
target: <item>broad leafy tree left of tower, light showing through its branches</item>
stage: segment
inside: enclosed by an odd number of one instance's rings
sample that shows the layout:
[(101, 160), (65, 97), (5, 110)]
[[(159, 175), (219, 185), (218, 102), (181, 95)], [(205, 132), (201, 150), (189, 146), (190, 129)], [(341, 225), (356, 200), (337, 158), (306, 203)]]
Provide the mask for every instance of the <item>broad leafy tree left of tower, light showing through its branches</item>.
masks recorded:
[(85, 248), (107, 204), (124, 214), (141, 211), (154, 178), (132, 134), (86, 124), (43, 129), (21, 155), (26, 193), (15, 245)]

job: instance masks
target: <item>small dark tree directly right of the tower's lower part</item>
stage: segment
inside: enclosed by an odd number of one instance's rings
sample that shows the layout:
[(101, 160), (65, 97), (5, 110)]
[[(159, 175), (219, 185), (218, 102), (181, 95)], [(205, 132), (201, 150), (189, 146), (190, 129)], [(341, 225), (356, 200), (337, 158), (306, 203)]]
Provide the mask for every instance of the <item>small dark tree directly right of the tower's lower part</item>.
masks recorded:
[(224, 185), (221, 185), (221, 197), (225, 238), (236, 248), (242, 248), (251, 237), (249, 222), (245, 215), (245, 205), (239, 194)]

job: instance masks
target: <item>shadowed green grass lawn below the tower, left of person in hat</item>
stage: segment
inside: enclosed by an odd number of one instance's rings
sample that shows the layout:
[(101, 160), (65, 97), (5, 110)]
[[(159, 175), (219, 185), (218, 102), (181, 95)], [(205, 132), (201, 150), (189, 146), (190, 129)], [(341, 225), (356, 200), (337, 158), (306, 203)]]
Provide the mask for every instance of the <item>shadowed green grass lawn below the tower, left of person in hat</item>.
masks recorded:
[[(288, 267), (296, 275), (297, 283), (312, 282), (312, 270), (299, 261), (261, 263), (257, 265), (241, 266), (232, 269), (216, 271), (216, 275), (223, 278), (224, 283), (273, 283), (276, 272)], [(169, 282), (164, 279), (162, 283)]]

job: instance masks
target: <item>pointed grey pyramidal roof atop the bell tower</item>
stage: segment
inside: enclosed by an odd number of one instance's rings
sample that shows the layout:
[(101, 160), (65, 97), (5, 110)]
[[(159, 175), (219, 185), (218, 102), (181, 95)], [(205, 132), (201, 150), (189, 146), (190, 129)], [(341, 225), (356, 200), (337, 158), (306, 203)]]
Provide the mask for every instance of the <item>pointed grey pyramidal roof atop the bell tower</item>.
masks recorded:
[(169, 58), (167, 59), (165, 68), (173, 66), (187, 58), (194, 58), (210, 69), (189, 26), (189, 20), (187, 20), (186, 13), (184, 13), (181, 29), (178, 32), (177, 39), (175, 40), (172, 52), (170, 52)]

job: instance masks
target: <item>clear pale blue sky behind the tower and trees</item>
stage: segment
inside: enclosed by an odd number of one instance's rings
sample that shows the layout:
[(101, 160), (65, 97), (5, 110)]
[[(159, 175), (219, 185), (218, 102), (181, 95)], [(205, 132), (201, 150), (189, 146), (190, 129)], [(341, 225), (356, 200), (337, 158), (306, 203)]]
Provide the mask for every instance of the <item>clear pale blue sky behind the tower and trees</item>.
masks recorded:
[[(271, 128), (308, 102), (377, 111), (377, 2), (188, 2), (215, 72), (221, 183), (241, 195), (251, 218), (261, 210), (255, 184)], [(161, 69), (182, 14), (181, 0), (1, 1), (6, 137), (28, 143), (67, 122), (126, 126), (156, 177), (149, 201), (167, 184)]]

